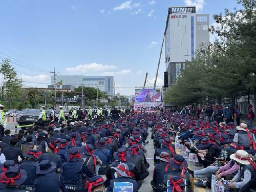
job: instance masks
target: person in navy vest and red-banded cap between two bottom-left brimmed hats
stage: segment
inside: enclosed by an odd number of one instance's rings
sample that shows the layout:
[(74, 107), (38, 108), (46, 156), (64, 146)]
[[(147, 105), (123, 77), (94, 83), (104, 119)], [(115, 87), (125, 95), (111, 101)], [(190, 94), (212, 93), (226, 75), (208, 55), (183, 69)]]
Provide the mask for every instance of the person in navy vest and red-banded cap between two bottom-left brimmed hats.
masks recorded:
[(22, 187), (28, 191), (32, 191), (34, 187), (34, 182), (37, 177), (36, 175), (36, 168), (38, 167), (39, 163), (36, 161), (39, 159), (41, 152), (37, 152), (37, 150), (29, 150), (24, 156), (27, 158), (20, 164), (20, 168), (26, 170), (28, 177), (26, 181), (22, 184)]

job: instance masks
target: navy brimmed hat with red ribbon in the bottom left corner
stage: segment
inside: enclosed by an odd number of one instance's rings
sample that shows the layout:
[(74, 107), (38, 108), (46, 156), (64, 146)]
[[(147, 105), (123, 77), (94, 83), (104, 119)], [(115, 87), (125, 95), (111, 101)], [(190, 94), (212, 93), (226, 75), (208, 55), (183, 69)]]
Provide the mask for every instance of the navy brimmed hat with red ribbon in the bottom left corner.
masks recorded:
[(27, 172), (24, 169), (20, 169), (18, 165), (10, 166), (6, 172), (2, 172), (0, 175), (0, 183), (6, 185), (19, 186), (27, 179)]

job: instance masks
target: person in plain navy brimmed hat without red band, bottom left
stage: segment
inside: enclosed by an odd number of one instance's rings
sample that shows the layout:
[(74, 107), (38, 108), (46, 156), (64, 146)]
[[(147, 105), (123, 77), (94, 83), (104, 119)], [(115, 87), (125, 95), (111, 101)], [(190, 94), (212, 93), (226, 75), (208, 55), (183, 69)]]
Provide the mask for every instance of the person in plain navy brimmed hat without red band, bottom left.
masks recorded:
[(43, 160), (36, 168), (36, 174), (39, 176), (35, 179), (34, 191), (45, 192), (45, 191), (61, 191), (67, 192), (63, 176), (56, 174), (54, 170), (56, 164), (49, 160)]

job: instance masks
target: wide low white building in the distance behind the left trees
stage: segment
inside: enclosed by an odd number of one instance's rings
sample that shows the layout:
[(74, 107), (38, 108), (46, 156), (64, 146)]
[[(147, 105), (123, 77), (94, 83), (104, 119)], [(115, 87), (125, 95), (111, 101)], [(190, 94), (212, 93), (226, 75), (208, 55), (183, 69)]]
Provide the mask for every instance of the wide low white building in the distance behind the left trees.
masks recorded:
[[(62, 86), (79, 86), (99, 89), (109, 95), (115, 95), (115, 81), (113, 76), (83, 76), (83, 75), (57, 75), (56, 84)], [(51, 85), (54, 86), (54, 76), (51, 76)]]

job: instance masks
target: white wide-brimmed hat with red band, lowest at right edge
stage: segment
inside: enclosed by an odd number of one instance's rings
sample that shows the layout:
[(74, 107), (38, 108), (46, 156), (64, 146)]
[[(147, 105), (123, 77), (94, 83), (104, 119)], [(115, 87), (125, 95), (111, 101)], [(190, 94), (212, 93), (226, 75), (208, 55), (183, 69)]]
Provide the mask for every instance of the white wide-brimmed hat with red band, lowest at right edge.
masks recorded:
[(256, 165), (250, 158), (249, 154), (244, 150), (238, 150), (235, 154), (230, 155), (230, 159), (233, 159), (243, 165), (252, 165), (256, 169)]

